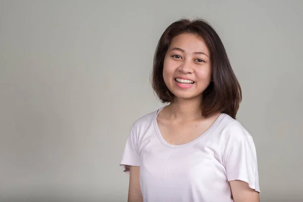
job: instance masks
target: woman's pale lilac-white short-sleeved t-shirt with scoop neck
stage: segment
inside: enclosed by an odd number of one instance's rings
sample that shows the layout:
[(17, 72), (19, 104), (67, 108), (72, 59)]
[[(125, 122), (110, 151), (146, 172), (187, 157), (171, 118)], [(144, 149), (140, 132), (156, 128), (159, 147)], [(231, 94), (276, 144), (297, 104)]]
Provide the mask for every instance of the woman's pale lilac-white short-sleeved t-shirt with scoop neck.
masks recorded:
[(182, 144), (166, 142), (157, 116), (163, 108), (131, 127), (120, 166), (140, 166), (144, 202), (233, 201), (228, 181), (242, 180), (260, 192), (254, 141), (227, 114), (198, 138)]

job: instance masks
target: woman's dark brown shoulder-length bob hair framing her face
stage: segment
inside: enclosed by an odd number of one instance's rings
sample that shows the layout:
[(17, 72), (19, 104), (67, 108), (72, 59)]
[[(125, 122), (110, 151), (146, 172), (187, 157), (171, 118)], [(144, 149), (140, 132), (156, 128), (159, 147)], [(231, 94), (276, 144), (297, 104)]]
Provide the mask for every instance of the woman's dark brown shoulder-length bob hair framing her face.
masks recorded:
[(194, 33), (205, 40), (210, 51), (212, 81), (203, 92), (202, 115), (225, 113), (236, 118), (242, 92), (231, 68), (224, 45), (215, 29), (203, 19), (180, 19), (166, 28), (156, 48), (151, 85), (162, 103), (171, 103), (174, 95), (163, 79), (163, 64), (172, 39), (182, 33)]

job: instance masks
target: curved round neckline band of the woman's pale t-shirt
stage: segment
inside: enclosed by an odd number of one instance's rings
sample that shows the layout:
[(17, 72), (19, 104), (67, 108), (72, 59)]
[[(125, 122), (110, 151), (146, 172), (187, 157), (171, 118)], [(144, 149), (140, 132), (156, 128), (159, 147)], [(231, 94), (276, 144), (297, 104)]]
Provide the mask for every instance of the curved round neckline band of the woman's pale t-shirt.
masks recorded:
[(222, 120), (222, 118), (226, 115), (224, 113), (220, 114), (218, 116), (218, 118), (214, 121), (214, 123), (202, 134), (200, 134), (200, 136), (198, 136), (197, 138), (189, 141), (189, 142), (186, 142), (184, 144), (170, 144), (168, 143), (162, 136), (161, 134), (161, 131), (160, 131), (160, 128), (159, 128), (159, 125), (158, 125), (158, 121), (157, 121), (157, 117), (158, 115), (160, 114), (160, 112), (163, 110), (164, 107), (158, 109), (156, 112), (155, 112), (155, 116), (154, 116), (154, 127), (155, 127), (155, 130), (156, 130), (156, 134), (159, 138), (159, 140), (161, 141), (162, 144), (164, 144), (165, 146), (167, 147), (170, 147), (170, 148), (181, 148), (181, 147), (185, 147), (185, 146), (188, 146), (190, 144), (193, 144), (195, 142), (197, 142), (198, 140), (200, 140), (202, 137), (204, 137), (205, 135), (207, 135), (209, 132), (211, 132), (211, 130), (213, 130), (213, 128)]

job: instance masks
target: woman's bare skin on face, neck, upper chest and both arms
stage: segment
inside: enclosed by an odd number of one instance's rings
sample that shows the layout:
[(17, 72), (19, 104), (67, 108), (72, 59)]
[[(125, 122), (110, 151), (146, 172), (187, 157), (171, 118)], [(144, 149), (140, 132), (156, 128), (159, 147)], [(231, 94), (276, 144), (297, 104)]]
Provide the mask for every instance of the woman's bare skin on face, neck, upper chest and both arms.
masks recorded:
[[(170, 144), (184, 144), (197, 138), (220, 115), (218, 113), (205, 118), (199, 109), (201, 93), (211, 82), (211, 67), (209, 49), (202, 38), (191, 33), (173, 38), (164, 59), (163, 78), (175, 97), (157, 118), (161, 134)], [(176, 84), (177, 77), (188, 78), (194, 84), (188, 89), (182, 89)], [(140, 168), (130, 166), (129, 170), (128, 202), (141, 202)], [(259, 192), (251, 189), (248, 183), (233, 180), (229, 184), (234, 202), (260, 202)]]

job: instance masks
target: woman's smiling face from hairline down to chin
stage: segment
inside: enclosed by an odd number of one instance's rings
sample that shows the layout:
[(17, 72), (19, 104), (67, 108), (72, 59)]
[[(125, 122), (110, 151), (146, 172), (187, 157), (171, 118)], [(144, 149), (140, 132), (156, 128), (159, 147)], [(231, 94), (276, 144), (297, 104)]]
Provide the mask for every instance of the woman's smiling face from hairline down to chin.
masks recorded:
[(163, 78), (178, 98), (199, 96), (212, 78), (209, 49), (196, 34), (183, 33), (173, 38), (164, 58)]

